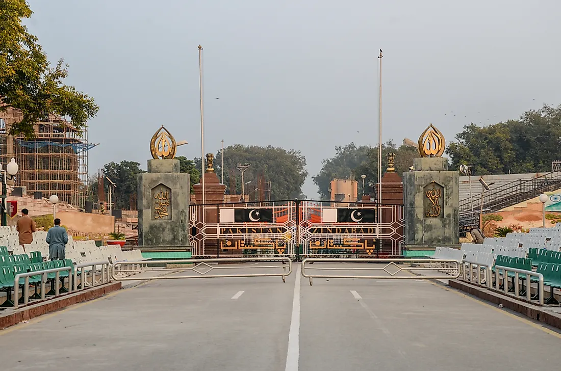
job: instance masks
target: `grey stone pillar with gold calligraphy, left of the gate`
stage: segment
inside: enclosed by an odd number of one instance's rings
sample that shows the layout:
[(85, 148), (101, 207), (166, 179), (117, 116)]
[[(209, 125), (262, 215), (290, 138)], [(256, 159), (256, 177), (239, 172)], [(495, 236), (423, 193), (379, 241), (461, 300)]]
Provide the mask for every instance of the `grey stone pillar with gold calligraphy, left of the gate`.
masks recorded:
[(148, 160), (139, 174), (138, 231), (141, 251), (187, 251), (189, 174), (179, 160)]

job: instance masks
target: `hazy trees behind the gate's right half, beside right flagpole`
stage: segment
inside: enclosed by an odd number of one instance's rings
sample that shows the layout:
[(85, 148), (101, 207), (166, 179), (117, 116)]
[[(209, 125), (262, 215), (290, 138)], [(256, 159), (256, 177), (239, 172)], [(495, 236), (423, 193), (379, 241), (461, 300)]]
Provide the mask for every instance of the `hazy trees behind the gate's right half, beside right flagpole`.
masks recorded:
[[(388, 152), (395, 152), (396, 159), (394, 160), (394, 167), (396, 173), (400, 176), (404, 171), (413, 165), (413, 159), (419, 157), (419, 152), (416, 148), (409, 146), (396, 145), (389, 141), (382, 145), (382, 165), (383, 172), (387, 168), (386, 155)], [(329, 200), (330, 182), (334, 178), (347, 179), (354, 178), (358, 180), (358, 193), (367, 193), (373, 191), (373, 186), (370, 184), (378, 183), (378, 146), (359, 146), (355, 143), (349, 143), (346, 146), (335, 147), (335, 156), (323, 160), (323, 167), (318, 175), (312, 177), (316, 186), (318, 186), (318, 193), (322, 200)], [(361, 175), (366, 175), (365, 189), (362, 189)]]

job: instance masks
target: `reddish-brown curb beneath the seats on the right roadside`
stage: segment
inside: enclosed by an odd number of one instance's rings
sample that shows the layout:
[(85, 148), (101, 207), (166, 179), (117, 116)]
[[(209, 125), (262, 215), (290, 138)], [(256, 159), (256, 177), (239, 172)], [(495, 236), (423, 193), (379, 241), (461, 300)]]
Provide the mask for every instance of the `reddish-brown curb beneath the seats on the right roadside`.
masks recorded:
[(487, 302), (497, 305), (503, 304), (504, 308), (511, 309), (514, 312), (523, 314), (528, 318), (532, 318), (536, 321), (548, 324), (549, 326), (561, 329), (561, 315), (546, 310), (547, 307), (537, 307), (536, 305), (528, 304), (514, 298), (509, 298), (508, 296), (487, 290), (484, 287), (478, 287), (459, 280), (449, 280), (448, 285), (454, 289), (477, 296), (477, 298), (486, 300)]

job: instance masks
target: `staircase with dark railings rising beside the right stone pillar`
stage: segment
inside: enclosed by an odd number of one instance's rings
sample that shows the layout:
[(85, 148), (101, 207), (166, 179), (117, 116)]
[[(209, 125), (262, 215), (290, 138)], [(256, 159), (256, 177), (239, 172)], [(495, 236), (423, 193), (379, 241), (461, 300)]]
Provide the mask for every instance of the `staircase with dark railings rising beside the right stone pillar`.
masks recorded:
[[(524, 201), (531, 200), (544, 192), (555, 191), (561, 188), (561, 172), (555, 171), (541, 175), (540, 177), (516, 180), (504, 184), (497, 188), (491, 188), (484, 194), (484, 212), (495, 212), (505, 207), (517, 205)], [(470, 198), (459, 203), (459, 224), (468, 225), (475, 220), (477, 214), (477, 224), (479, 224), (479, 210), (481, 209), (481, 198), (473, 200), (473, 211)]]

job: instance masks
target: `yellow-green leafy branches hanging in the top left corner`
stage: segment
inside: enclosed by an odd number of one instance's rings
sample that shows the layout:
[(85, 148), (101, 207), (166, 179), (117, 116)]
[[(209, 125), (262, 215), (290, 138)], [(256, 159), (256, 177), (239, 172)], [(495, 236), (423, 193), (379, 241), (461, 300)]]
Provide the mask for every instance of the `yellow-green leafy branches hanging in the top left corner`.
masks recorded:
[(93, 98), (63, 84), (68, 76), (63, 59), (49, 65), (38, 38), (22, 24), (31, 14), (25, 0), (0, 0), (0, 110), (11, 107), (23, 114), (10, 133), (33, 137), (33, 124), (49, 113), (70, 116), (82, 129), (99, 108)]

